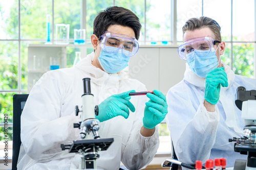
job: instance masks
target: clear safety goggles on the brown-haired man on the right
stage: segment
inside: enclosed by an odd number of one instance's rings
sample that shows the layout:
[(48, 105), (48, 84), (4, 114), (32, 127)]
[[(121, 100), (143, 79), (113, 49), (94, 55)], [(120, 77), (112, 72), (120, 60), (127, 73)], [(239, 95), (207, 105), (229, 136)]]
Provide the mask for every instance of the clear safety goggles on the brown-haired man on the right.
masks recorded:
[(205, 52), (200, 53), (203, 55), (200, 57), (205, 57), (210, 52), (215, 51), (214, 45), (216, 45), (216, 43), (220, 43), (220, 41), (214, 40), (209, 36), (189, 39), (178, 47), (178, 54), (181, 59), (189, 60), (189, 57), (193, 56), (191, 53), (194, 53), (194, 51), (197, 50)]

